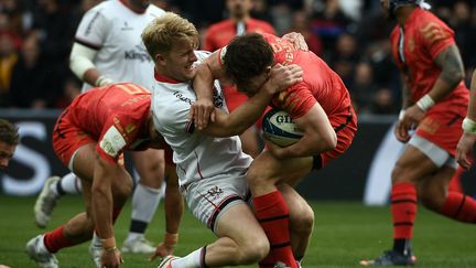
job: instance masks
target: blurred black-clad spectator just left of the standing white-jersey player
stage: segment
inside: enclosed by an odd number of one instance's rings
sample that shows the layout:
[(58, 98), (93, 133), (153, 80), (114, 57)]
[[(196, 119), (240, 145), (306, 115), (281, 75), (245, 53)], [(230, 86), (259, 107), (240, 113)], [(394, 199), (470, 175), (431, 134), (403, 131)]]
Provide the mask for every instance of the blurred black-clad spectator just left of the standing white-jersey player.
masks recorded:
[(34, 35), (23, 43), (19, 61), (13, 66), (10, 84), (10, 105), (19, 108), (41, 109), (51, 106), (55, 98), (52, 88), (57, 84), (48, 65), (42, 57), (41, 47)]

